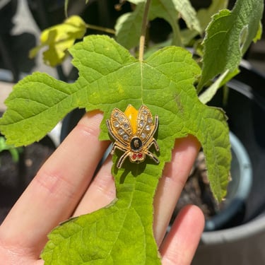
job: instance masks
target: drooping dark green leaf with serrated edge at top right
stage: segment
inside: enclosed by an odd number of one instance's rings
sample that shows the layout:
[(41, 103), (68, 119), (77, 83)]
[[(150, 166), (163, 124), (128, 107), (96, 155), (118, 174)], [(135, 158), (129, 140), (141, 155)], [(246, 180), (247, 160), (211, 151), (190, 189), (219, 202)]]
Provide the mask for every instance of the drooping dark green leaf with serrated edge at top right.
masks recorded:
[(263, 0), (237, 0), (232, 11), (213, 16), (206, 30), (201, 80), (198, 90), (226, 70), (235, 71), (259, 32)]

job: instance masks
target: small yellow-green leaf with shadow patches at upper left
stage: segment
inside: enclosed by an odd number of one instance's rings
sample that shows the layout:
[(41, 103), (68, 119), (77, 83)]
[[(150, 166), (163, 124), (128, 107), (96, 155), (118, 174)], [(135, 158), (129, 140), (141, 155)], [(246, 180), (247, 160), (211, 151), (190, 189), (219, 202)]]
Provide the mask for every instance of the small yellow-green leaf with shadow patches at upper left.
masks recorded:
[(40, 35), (40, 45), (30, 50), (30, 58), (37, 55), (43, 47), (43, 60), (49, 66), (61, 64), (67, 55), (67, 50), (73, 46), (76, 39), (81, 39), (86, 33), (86, 23), (79, 16), (71, 16), (64, 23), (47, 28)]

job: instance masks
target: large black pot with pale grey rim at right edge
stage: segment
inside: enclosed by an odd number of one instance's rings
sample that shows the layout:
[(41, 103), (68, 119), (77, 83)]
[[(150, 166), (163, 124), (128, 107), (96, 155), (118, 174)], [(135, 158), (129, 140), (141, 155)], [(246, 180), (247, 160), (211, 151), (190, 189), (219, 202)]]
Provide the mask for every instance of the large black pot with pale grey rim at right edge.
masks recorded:
[(252, 188), (241, 210), (220, 230), (204, 232), (192, 265), (265, 264), (265, 79), (242, 67), (229, 83), (228, 102), (220, 90), (210, 105), (223, 107), (230, 130), (252, 163)]

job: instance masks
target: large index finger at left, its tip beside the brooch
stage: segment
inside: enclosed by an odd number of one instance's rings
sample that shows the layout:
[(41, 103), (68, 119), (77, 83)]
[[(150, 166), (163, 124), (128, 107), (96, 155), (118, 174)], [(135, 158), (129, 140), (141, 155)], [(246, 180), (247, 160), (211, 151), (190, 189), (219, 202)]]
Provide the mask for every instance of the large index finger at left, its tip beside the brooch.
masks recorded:
[[(0, 227), (0, 238), (39, 253), (47, 233), (71, 216), (109, 144), (100, 112), (86, 114), (47, 160)], [(34, 232), (33, 232), (34, 231)]]

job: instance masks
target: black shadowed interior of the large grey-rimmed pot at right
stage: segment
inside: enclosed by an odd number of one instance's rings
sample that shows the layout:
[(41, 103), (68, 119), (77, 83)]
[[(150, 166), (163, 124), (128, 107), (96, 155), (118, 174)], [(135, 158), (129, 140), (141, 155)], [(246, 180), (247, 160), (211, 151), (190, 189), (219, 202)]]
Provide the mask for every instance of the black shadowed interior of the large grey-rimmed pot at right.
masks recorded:
[(240, 139), (252, 163), (252, 189), (241, 220), (235, 224), (238, 225), (265, 211), (265, 79), (242, 68), (240, 75), (228, 86), (228, 101), (223, 103), (223, 90), (220, 90), (209, 105), (225, 110), (230, 131)]

